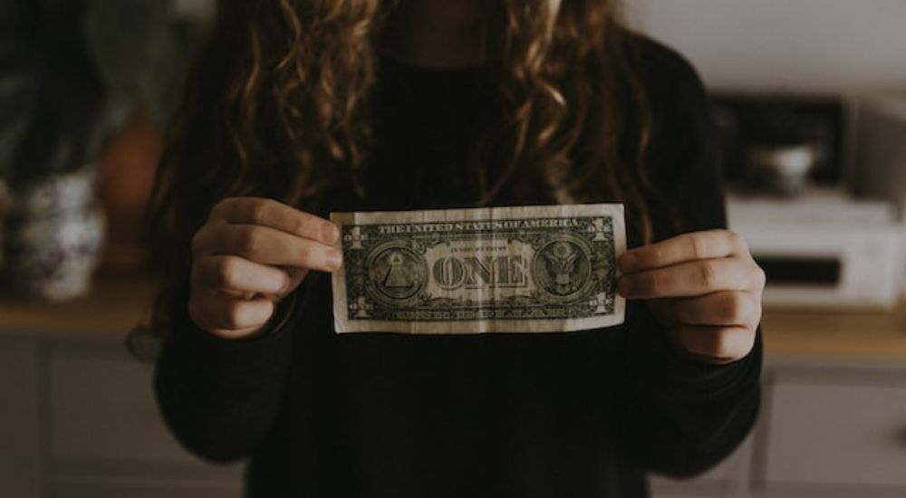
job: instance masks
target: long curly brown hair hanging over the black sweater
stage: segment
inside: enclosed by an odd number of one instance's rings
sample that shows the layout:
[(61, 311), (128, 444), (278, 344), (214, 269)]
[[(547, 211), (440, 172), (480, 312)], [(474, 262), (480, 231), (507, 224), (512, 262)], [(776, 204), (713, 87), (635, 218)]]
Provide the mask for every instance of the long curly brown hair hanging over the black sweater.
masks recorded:
[[(359, 183), (369, 101), (393, 0), (221, 1), (190, 78), (153, 200), (152, 234), (185, 286), (188, 241), (226, 196), (316, 210)], [(651, 238), (641, 158), (650, 123), (631, 34), (616, 0), (496, 0), (483, 43), (502, 120), (467, 173), (474, 202), (545, 188), (557, 202), (621, 201)], [(626, 144), (631, 143), (631, 150)], [(494, 144), (494, 150), (483, 150)], [(487, 161), (494, 168), (489, 177)], [(535, 197), (536, 198), (536, 197)], [(162, 294), (152, 330), (166, 330)]]

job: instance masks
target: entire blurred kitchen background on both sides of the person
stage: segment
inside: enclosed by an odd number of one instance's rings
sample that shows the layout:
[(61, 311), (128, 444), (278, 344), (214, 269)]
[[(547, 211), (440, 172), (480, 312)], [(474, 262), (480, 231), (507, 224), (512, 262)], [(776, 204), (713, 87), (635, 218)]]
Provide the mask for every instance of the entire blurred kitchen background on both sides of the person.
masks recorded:
[[(209, 0), (0, 6), (0, 495), (239, 496), (126, 350), (140, 222)], [(659, 497), (906, 496), (906, 2), (630, 0), (699, 69), (730, 227), (766, 269), (764, 407)], [(153, 343), (132, 343), (140, 356)]]

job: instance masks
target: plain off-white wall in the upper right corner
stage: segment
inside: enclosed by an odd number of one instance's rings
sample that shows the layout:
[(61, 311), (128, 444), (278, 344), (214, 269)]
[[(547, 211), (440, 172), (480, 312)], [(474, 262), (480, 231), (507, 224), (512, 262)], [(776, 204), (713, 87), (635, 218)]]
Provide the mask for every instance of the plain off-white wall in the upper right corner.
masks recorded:
[(719, 90), (906, 90), (906, 0), (625, 0)]

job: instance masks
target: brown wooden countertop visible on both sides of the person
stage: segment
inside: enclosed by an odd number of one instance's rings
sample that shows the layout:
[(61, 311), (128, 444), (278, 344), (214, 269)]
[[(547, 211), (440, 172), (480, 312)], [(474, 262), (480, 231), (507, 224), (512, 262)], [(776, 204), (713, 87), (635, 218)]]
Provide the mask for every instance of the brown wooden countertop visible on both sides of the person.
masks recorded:
[[(121, 337), (149, 315), (156, 285), (149, 277), (106, 277), (71, 302), (0, 295), (0, 333)], [(766, 310), (768, 359), (906, 362), (906, 302), (889, 312)]]

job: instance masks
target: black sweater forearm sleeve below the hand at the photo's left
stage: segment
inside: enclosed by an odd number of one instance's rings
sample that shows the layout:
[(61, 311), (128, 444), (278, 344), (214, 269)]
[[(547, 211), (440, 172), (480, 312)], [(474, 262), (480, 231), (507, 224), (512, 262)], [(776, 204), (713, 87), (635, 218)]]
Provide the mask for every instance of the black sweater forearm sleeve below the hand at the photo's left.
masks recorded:
[(173, 293), (154, 390), (170, 430), (189, 451), (227, 463), (249, 456), (268, 434), (289, 368), (296, 299), (287, 296), (265, 334), (227, 340), (188, 316), (188, 285)]

